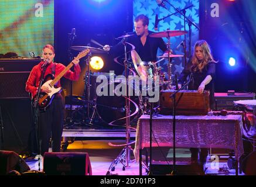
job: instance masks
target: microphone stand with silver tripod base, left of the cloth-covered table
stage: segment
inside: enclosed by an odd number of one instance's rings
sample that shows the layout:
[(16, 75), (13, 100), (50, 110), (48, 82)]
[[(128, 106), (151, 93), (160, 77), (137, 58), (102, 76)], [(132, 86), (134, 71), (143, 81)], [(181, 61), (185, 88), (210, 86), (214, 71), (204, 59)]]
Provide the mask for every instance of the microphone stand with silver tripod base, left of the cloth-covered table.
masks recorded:
[(125, 60), (124, 60), (124, 70), (125, 70), (125, 115), (126, 115), (126, 146), (122, 149), (121, 153), (115, 158), (114, 161), (112, 161), (110, 167), (108, 168), (107, 174), (110, 175), (110, 169), (111, 171), (115, 171), (115, 166), (118, 164), (118, 162), (121, 162), (123, 165), (122, 170), (125, 171), (125, 168), (129, 167), (130, 162), (130, 155), (131, 155), (131, 145), (130, 145), (130, 102), (128, 99), (128, 60), (127, 60), (127, 42), (125, 41), (127, 37), (124, 37), (122, 39), (122, 44), (124, 44), (124, 51), (125, 51)]

